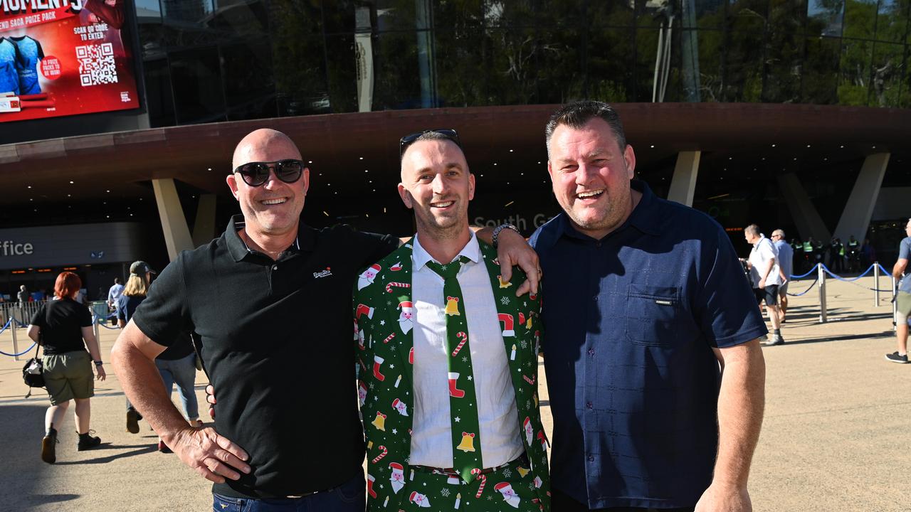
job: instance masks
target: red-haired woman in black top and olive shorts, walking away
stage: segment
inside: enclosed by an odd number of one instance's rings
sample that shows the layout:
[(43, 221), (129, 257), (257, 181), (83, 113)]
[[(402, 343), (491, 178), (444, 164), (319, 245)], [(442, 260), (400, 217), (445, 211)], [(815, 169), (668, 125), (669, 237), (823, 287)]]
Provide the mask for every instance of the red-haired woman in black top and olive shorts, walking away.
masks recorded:
[(28, 326), (28, 337), (45, 348), (45, 384), (51, 406), (45, 414), (46, 434), (41, 440), (41, 460), (47, 464), (56, 461), (55, 425), (63, 423), (70, 400), (76, 401), (77, 450), (101, 444), (101, 439), (88, 429), (89, 398), (95, 394), (92, 362), (99, 381), (105, 380), (107, 375), (101, 363), (101, 349), (92, 331), (92, 314), (86, 306), (76, 302), (80, 288), (79, 276), (61, 272), (54, 284), (55, 300), (42, 305)]

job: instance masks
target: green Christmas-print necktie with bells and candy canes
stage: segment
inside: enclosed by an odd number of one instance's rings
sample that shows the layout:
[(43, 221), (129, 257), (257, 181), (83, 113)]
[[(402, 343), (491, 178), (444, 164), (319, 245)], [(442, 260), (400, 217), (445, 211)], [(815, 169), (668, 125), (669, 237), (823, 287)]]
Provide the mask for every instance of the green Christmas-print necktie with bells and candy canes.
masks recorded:
[(449, 353), (449, 417), (453, 433), (453, 467), (466, 482), (481, 469), (481, 433), (477, 419), (475, 375), (465, 318), (465, 299), (455, 278), (469, 260), (460, 256), (448, 265), (427, 261), (427, 268), (443, 278), (446, 307), (446, 352)]

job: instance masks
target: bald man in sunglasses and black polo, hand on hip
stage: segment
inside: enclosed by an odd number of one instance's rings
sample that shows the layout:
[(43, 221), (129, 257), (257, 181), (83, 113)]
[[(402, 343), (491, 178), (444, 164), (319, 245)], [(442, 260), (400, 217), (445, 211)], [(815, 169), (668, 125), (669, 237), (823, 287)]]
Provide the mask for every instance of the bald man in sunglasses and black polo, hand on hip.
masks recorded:
[[(264, 507), (268, 499), (363, 512), (351, 286), (399, 241), (303, 224), (310, 169), (281, 132), (262, 128), (243, 138), (232, 169), (226, 181), (241, 215), (161, 271), (115, 343), (118, 378), (180, 460), (214, 482), (215, 509)], [(505, 275), (517, 258), (537, 267), (524, 238), (510, 233), (503, 241)], [(200, 336), (202, 364), (219, 393), (214, 427), (189, 427), (150, 385), (159, 378), (152, 362), (181, 331)]]

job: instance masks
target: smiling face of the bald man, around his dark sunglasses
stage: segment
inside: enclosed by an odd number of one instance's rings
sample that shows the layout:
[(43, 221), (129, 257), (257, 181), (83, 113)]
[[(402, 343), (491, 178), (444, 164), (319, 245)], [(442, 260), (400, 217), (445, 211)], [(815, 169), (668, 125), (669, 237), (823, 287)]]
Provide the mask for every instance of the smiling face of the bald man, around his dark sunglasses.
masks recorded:
[[(241, 140), (234, 150), (232, 169), (248, 162), (272, 162), (281, 159), (302, 159), (301, 152), (290, 138), (271, 129), (258, 129)], [(251, 187), (240, 174), (228, 175), (228, 186), (241, 203), (246, 230), (263, 235), (281, 235), (297, 231), (303, 210), (303, 199), (310, 185), (310, 169), (303, 169), (301, 179), (285, 183), (275, 177), (259, 187)]]

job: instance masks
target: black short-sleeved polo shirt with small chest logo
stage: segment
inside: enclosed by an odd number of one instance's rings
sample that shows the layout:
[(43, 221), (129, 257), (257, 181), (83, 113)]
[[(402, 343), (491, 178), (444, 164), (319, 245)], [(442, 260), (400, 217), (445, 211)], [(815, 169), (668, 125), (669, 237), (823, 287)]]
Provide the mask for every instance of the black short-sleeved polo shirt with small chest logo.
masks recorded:
[(339, 486), (360, 471), (351, 290), (398, 245), (346, 226), (301, 224), (272, 261), (251, 251), (235, 216), (183, 251), (152, 284), (133, 322), (156, 343), (195, 331), (218, 394), (215, 427), (250, 454), (250, 475), (213, 486), (231, 497), (283, 497)]

